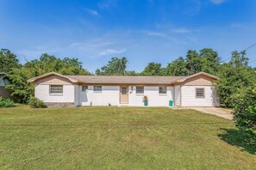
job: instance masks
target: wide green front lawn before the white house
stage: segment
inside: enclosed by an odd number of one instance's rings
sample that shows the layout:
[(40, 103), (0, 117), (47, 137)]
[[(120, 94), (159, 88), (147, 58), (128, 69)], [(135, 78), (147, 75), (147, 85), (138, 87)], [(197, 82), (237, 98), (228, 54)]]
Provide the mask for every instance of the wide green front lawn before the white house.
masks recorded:
[(232, 121), (160, 107), (0, 109), (0, 169), (253, 169)]

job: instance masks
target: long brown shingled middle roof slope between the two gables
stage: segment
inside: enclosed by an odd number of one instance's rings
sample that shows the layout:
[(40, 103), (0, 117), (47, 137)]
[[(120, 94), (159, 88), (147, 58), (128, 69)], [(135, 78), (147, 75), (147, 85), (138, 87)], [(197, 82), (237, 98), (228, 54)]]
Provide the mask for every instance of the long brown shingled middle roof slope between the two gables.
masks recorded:
[(183, 76), (67, 76), (86, 83), (172, 84)]

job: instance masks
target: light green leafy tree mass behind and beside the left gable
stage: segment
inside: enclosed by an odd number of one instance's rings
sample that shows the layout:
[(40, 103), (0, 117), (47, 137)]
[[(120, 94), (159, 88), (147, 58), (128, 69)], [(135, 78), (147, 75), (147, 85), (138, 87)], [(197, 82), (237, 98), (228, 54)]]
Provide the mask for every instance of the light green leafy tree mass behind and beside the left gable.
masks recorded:
[(28, 79), (52, 71), (67, 75), (90, 75), (82, 68), (82, 63), (77, 58), (60, 59), (44, 53), (40, 59), (27, 62), (19, 69), (10, 70), (7, 76), (10, 84), (6, 88), (16, 101), (27, 103), (29, 97), (34, 94), (34, 86), (27, 82)]

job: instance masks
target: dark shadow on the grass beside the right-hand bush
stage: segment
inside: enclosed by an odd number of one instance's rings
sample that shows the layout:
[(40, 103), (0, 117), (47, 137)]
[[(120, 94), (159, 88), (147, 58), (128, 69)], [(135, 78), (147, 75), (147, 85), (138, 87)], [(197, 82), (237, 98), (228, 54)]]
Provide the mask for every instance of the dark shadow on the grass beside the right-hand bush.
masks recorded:
[(247, 151), (249, 154), (255, 155), (256, 154), (256, 144), (247, 143), (246, 142), (246, 135), (239, 130), (236, 129), (223, 129), (222, 131), (225, 133), (218, 135), (223, 141), (228, 144), (231, 144), (235, 147), (243, 151)]

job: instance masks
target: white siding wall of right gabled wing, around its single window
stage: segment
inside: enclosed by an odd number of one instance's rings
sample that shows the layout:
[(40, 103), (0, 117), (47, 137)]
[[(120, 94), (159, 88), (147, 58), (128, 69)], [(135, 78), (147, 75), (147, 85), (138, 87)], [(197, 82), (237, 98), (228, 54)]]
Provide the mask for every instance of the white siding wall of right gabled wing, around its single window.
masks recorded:
[[(196, 98), (196, 88), (204, 88), (204, 98)], [(215, 86), (182, 86), (182, 106), (219, 106)]]

